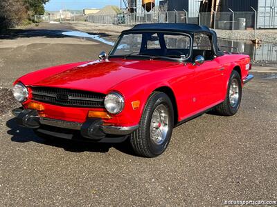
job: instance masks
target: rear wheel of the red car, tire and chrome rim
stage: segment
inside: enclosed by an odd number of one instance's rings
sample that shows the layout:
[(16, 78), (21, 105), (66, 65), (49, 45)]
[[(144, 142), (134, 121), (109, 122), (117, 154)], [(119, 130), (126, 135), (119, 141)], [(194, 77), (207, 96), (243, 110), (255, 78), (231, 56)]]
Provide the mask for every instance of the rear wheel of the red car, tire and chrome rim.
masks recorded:
[(233, 116), (240, 108), (242, 99), (242, 81), (240, 74), (233, 70), (229, 79), (228, 90), (224, 102), (217, 106), (216, 110), (220, 115)]

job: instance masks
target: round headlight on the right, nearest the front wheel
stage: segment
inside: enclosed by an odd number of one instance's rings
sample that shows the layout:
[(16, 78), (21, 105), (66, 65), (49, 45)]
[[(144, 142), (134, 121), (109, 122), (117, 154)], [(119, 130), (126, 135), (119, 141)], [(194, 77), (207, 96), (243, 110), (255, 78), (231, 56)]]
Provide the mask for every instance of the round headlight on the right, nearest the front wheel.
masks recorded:
[(111, 114), (118, 114), (122, 112), (124, 108), (124, 99), (117, 92), (111, 92), (105, 97), (105, 108)]

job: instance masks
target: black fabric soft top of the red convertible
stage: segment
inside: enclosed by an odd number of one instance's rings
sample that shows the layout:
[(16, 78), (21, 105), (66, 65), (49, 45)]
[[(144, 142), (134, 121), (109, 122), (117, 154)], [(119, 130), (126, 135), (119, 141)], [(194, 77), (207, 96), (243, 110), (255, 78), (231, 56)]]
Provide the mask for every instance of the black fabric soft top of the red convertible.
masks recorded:
[(199, 26), (193, 23), (141, 23), (137, 24), (133, 28), (129, 30), (125, 30), (124, 32), (139, 32), (139, 31), (170, 31), (170, 32), (186, 32), (190, 34), (202, 32), (211, 34), (211, 38), (213, 41), (213, 50), (215, 55), (222, 56), (224, 52), (218, 48), (217, 44), (217, 34), (215, 31), (210, 30), (210, 28), (206, 26)]

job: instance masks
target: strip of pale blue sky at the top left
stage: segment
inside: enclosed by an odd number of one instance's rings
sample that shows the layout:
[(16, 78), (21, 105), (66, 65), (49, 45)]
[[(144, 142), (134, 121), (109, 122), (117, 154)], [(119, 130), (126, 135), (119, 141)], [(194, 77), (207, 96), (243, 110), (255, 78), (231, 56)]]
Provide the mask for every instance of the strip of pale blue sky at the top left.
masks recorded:
[(45, 10), (82, 10), (84, 8), (103, 8), (107, 5), (119, 6), (119, 0), (50, 0), (46, 3)]

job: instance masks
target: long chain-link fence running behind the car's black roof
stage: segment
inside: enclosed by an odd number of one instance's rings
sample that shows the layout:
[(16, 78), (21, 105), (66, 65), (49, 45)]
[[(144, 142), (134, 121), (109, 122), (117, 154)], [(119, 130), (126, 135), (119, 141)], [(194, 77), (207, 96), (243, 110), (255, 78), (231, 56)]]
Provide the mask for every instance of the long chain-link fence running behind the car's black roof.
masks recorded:
[[(133, 26), (138, 23), (197, 23), (213, 29), (245, 30), (255, 27), (255, 12), (140, 12), (117, 15), (89, 15), (85, 21)], [(196, 17), (195, 17), (196, 16)]]

